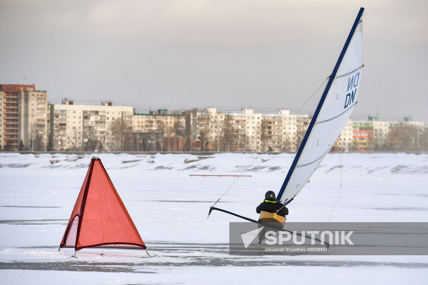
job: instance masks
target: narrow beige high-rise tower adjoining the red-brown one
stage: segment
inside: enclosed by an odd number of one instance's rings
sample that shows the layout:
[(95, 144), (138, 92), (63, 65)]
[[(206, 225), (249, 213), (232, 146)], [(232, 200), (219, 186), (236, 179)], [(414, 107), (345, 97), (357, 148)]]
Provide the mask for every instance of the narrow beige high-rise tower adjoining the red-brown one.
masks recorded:
[(48, 143), (48, 92), (18, 92), (18, 141), (28, 150), (42, 151)]

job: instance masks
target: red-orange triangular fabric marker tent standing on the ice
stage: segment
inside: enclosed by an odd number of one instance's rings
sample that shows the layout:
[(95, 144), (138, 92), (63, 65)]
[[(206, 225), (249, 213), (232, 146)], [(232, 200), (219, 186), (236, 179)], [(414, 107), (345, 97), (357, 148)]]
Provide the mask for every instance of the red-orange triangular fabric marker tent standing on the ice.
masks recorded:
[(146, 249), (98, 157), (91, 160), (61, 247)]

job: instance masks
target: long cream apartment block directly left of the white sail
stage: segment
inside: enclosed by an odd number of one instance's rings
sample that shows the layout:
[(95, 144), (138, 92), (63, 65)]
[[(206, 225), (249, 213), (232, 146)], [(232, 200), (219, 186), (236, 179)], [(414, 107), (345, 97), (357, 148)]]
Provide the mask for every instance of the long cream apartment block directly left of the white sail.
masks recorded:
[[(293, 115), (289, 110), (277, 114), (222, 113), (215, 108), (197, 113), (198, 139), (208, 147), (224, 151), (295, 151), (309, 126), (309, 115)], [(211, 147), (210, 147), (211, 146)]]

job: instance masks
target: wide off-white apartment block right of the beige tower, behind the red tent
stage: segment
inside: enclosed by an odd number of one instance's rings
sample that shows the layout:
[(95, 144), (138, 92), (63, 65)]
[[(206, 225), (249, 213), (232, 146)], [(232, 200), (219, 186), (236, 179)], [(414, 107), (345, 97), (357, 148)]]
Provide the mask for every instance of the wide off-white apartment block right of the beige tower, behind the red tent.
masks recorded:
[[(85, 144), (96, 144), (94, 150), (120, 148), (124, 132), (132, 132), (132, 106), (113, 106), (111, 102), (96, 105), (74, 105), (64, 100), (51, 104), (51, 139), (54, 150), (83, 150)], [(116, 134), (117, 133), (117, 134)]]

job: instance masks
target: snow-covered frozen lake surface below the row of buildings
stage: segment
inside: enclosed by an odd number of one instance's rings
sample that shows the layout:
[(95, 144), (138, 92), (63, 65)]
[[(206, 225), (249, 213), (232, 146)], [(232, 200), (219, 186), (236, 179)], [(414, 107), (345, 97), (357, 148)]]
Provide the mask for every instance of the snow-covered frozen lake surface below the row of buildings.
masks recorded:
[[(257, 154), (100, 156), (149, 252), (58, 251), (92, 157), (0, 153), (2, 284), (426, 284), (428, 256), (229, 256), (229, 222), (209, 207)], [(428, 155), (346, 153), (330, 222), (428, 222)], [(257, 219), (294, 154), (260, 155), (217, 206)], [(50, 161), (58, 161), (51, 163)], [(292, 222), (326, 222), (339, 194), (339, 154), (328, 154), (288, 205)]]

